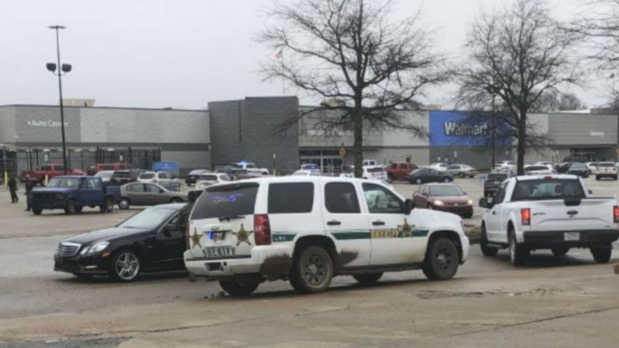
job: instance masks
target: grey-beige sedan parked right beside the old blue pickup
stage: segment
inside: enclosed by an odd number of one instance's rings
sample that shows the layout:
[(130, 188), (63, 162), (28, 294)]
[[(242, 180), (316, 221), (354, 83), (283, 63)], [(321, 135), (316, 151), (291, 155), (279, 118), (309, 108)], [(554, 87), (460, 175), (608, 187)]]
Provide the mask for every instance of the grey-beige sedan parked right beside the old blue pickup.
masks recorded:
[(187, 202), (187, 193), (169, 191), (159, 184), (131, 182), (120, 186), (118, 208), (156, 206), (157, 204)]

